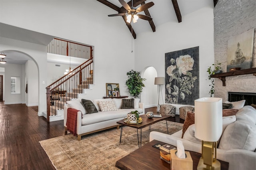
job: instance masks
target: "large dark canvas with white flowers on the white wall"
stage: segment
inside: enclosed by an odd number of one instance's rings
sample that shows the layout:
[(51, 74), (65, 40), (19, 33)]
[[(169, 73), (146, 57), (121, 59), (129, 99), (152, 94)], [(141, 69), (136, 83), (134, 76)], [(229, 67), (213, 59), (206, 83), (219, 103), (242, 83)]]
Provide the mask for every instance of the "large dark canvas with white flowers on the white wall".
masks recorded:
[(194, 105), (199, 98), (199, 47), (165, 53), (165, 103)]

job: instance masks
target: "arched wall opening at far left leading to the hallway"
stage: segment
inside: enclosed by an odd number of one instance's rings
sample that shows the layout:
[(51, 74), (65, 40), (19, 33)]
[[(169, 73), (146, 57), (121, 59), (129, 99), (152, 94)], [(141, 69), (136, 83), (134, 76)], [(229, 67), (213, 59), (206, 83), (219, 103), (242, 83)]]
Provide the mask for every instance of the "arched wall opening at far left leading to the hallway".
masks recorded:
[[(1, 52), (1, 51), (0, 51)], [(38, 106), (38, 65), (22, 51), (5, 50), (3, 100), (5, 104)], [(26, 88), (27, 87), (27, 88)]]

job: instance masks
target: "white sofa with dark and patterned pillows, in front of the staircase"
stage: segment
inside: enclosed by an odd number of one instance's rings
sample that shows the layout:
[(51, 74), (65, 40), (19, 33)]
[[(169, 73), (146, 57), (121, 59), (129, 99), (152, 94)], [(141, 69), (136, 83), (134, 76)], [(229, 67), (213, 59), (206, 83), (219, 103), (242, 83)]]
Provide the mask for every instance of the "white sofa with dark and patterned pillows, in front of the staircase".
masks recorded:
[[(116, 105), (116, 111), (101, 111), (98, 105), (98, 101), (114, 101)], [(78, 140), (81, 140), (81, 136), (105, 130), (108, 128), (117, 127), (119, 124), (117, 121), (127, 117), (127, 113), (131, 111), (138, 111), (140, 115), (144, 114), (144, 103), (139, 103), (140, 99), (134, 99), (134, 109), (120, 109), (122, 106), (122, 99), (94, 99), (92, 102), (97, 108), (97, 113), (88, 114), (82, 106), (81, 99), (74, 101), (67, 101), (68, 105), (64, 105), (64, 127), (65, 134), (67, 134), (66, 120), (67, 109), (69, 107), (79, 110), (77, 115), (77, 134)], [(81, 118), (82, 117), (82, 118)]]

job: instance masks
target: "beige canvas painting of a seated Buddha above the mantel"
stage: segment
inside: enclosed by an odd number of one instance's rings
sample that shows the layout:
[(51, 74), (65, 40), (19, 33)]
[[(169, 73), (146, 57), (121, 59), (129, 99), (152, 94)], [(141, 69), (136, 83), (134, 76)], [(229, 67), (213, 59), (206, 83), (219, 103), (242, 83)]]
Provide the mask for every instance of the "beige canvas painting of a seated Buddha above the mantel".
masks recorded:
[(228, 40), (227, 72), (232, 68), (252, 68), (254, 28)]

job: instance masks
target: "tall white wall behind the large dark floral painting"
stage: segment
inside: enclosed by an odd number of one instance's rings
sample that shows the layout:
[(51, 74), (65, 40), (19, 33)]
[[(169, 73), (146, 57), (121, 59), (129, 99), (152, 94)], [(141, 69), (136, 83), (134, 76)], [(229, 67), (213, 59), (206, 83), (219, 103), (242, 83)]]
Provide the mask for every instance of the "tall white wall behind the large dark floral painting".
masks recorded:
[(182, 16), (180, 23), (168, 22), (158, 26), (156, 32), (140, 34), (135, 40), (135, 69), (142, 71), (150, 65), (156, 69), (158, 77), (165, 77), (165, 53), (199, 46), (200, 97), (208, 97), (210, 82), (206, 80), (206, 71), (214, 62), (213, 18), (213, 7), (202, 8)]

